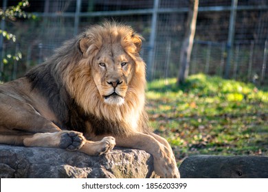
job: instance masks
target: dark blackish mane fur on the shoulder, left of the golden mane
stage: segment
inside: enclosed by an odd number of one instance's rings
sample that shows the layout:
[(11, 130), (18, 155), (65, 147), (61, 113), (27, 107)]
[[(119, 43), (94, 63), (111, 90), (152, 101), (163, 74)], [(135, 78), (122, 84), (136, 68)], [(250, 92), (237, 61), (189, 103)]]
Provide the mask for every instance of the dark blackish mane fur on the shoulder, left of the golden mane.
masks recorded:
[[(59, 120), (55, 123), (60, 128), (82, 131), (85, 129), (85, 122), (82, 120), (83, 115), (80, 114), (80, 108), (67, 92), (65, 84), (63, 84), (63, 77), (60, 74), (69, 64), (60, 63), (68, 54), (66, 50), (71, 50), (69, 54), (74, 57), (82, 57), (82, 53), (79, 49), (76, 49), (76, 42), (76, 39), (68, 41), (54, 53), (52, 58), (34, 67), (25, 76), (30, 80), (32, 88), (38, 89), (47, 98), (49, 108), (52, 109)], [(58, 63), (60, 63), (60, 66), (57, 66)]]

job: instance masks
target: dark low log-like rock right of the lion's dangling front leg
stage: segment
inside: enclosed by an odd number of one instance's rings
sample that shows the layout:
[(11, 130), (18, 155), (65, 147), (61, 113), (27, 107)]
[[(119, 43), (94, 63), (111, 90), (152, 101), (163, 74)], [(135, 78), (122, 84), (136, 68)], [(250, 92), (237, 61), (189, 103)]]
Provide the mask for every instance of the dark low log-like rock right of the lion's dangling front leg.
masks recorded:
[(181, 178), (268, 178), (267, 156), (190, 156), (179, 167)]

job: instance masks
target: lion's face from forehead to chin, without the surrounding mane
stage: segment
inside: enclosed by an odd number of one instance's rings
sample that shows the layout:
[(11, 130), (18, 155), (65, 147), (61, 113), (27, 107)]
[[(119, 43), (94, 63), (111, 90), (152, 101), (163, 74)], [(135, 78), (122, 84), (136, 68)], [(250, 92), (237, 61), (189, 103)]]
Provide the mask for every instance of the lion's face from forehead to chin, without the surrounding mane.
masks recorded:
[(91, 75), (104, 103), (124, 104), (134, 73), (134, 62), (120, 43), (103, 45), (93, 58)]

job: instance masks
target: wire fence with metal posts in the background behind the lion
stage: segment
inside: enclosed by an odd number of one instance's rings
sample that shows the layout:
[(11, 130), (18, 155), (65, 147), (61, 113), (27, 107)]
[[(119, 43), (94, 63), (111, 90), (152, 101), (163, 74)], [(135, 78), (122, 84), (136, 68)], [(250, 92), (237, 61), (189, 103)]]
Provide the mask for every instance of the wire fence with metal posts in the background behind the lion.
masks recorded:
[[(227, 76), (267, 86), (268, 1), (239, 0), (235, 7), (234, 1), (199, 1), (190, 74)], [(2, 0), (0, 5), (17, 2)], [(17, 62), (1, 63), (1, 80), (20, 77), (47, 60), (63, 41), (105, 19), (131, 25), (144, 36), (142, 56), (148, 80), (177, 77), (179, 73), (188, 0), (30, 0), (26, 11), (34, 12), (36, 19), (1, 21), (17, 40), (3, 40), (0, 56), (18, 50), (23, 54)], [(233, 26), (232, 11), (236, 12)], [(230, 27), (234, 27), (232, 45), (228, 42)]]

